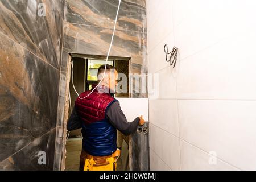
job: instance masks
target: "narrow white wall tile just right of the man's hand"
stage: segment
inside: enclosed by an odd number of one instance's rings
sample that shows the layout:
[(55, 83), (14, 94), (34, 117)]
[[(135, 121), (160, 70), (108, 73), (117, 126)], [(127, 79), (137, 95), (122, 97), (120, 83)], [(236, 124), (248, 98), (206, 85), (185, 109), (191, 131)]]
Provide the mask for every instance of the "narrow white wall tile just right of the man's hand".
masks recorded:
[(149, 100), (150, 123), (179, 137), (177, 100)]

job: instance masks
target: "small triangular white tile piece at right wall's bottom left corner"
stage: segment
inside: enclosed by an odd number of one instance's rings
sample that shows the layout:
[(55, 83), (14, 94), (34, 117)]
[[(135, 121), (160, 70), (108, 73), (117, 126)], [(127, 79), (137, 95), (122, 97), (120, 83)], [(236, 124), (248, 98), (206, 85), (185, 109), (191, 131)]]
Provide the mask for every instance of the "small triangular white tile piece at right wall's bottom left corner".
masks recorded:
[(170, 171), (171, 169), (150, 148), (150, 171)]

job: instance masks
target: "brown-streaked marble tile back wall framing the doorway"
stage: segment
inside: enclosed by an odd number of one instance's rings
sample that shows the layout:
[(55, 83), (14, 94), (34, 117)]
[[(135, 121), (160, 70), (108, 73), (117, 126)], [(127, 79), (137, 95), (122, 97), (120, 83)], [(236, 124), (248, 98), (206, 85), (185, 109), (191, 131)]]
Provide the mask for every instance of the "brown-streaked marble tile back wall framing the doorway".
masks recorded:
[[(68, 53), (106, 56), (113, 34), (117, 6), (118, 0), (66, 1), (55, 169), (60, 169), (60, 160), (63, 160), (64, 156), (60, 154), (59, 149), (65, 143), (63, 136), (65, 136), (66, 121), (63, 111), (67, 103), (65, 93), (68, 88), (65, 82)], [(146, 35), (146, 0), (122, 0), (110, 56), (131, 57), (130, 73), (146, 73)], [(146, 94), (134, 94), (134, 97), (144, 96)]]

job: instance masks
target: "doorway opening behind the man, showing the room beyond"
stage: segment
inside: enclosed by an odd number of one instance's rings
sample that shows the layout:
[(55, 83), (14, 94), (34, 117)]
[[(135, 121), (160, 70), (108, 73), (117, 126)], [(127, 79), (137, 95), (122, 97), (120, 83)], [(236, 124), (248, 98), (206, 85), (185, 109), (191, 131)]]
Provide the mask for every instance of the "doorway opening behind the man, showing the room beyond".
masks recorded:
[[(86, 90), (92, 88), (92, 84), (97, 84), (97, 70), (105, 64), (106, 56), (98, 55), (82, 55), (77, 53), (70, 53), (70, 59), (73, 61), (74, 69), (74, 86), (77, 92), (80, 94)], [(69, 59), (69, 60), (70, 60)], [(129, 73), (131, 73), (131, 61), (129, 57), (113, 57), (109, 56), (108, 63), (117, 68), (118, 73), (126, 75), (127, 84), (122, 85), (122, 90), (126, 90), (125, 93), (115, 94), (114, 97), (130, 97), (129, 92)], [(72, 85), (72, 69), (68, 73), (70, 75), (69, 92), (71, 98), (71, 110), (73, 110), (77, 94)], [(118, 87), (117, 87), (118, 88)], [(117, 90), (118, 91), (118, 90)], [(68, 118), (71, 115), (70, 109), (67, 110)], [(126, 170), (129, 169), (129, 150), (127, 139), (122, 140), (121, 157), (118, 159), (117, 169)], [(65, 170), (73, 171), (79, 170), (79, 160), (82, 150), (82, 134), (81, 129), (71, 131), (67, 138), (66, 143), (66, 158), (65, 158)]]

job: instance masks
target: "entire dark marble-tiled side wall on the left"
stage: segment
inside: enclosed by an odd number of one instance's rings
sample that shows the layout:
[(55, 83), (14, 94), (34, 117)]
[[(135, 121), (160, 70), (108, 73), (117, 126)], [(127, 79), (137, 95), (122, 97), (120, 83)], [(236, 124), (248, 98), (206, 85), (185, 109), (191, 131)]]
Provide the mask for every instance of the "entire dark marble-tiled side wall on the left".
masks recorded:
[(0, 169), (53, 169), (63, 18), (64, 0), (0, 1)]

